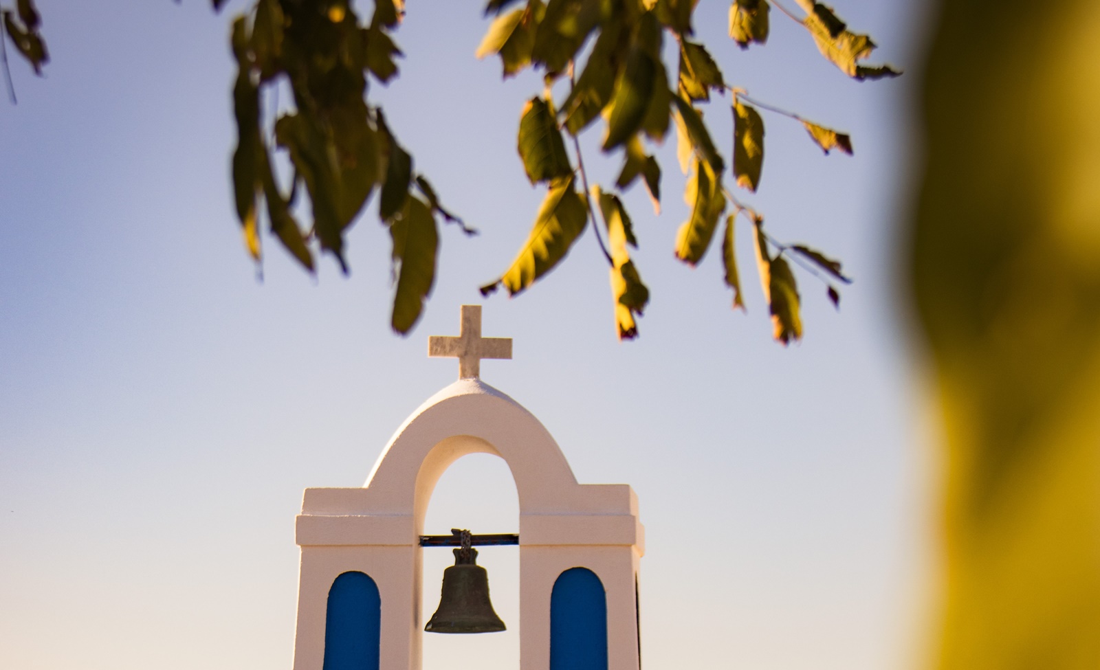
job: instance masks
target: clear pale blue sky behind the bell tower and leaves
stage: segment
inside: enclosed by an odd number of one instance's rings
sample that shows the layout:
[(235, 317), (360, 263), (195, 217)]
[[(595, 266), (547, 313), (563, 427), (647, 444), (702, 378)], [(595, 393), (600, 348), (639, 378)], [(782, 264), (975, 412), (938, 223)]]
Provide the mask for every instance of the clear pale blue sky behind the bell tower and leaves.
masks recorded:
[[(825, 157), (766, 116), (761, 190), (777, 238), (840, 257), (856, 283), (838, 314), (801, 282), (805, 340), (770, 339), (738, 237), (748, 314), (719, 259), (672, 257), (686, 217), (674, 141), (662, 216), (626, 198), (651, 290), (641, 337), (614, 333), (592, 233), (526, 295), (482, 300), (527, 237), (542, 191), (515, 151), (537, 77), (479, 62), (481, 2), (411, 1), (402, 76), (371, 96), (443, 202), (481, 229), (442, 230), (435, 294), (408, 338), (388, 327), (389, 240), (373, 205), (349, 238), (350, 278), (316, 279), (268, 243), (263, 281), (231, 202), (228, 25), (248, 3), (40, 0), (52, 63), (18, 58), (0, 105), (0, 667), (11, 670), (287, 668), (307, 486), (363, 483), (404, 418), (457, 377), (426, 358), (485, 304), (484, 333), (514, 360), (483, 378), (535, 413), (578, 480), (634, 486), (647, 668), (882, 670), (913, 666), (933, 584), (933, 481), (919, 375), (901, 318), (893, 240), (914, 160), (909, 112), (924, 3), (843, 0), (837, 11), (908, 72), (848, 80), (772, 12), (766, 47), (726, 36), (728, 2), (696, 26), (727, 79), (853, 133)], [(364, 3), (369, 4), (369, 3)], [(793, 4), (793, 3), (792, 3)], [(728, 99), (707, 110), (729, 154)], [(591, 175), (614, 179), (598, 127)], [(267, 240), (271, 242), (271, 240)], [(428, 530), (515, 531), (503, 462), (468, 457), (441, 481)], [(446, 550), (429, 550), (436, 605)], [(486, 549), (502, 617), (518, 623), (515, 549)], [(514, 630), (426, 636), (428, 669), (515, 668)], [(438, 639), (446, 638), (446, 639)]]

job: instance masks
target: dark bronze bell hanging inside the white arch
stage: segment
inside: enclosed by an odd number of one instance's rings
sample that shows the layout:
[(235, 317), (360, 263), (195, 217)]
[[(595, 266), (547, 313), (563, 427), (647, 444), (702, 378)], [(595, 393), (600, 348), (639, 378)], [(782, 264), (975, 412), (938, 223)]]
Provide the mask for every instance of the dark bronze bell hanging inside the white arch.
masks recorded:
[(454, 550), (454, 564), (443, 571), (443, 589), (436, 614), (424, 627), (428, 633), (497, 633), (504, 622), (488, 601), (488, 573), (477, 564), (477, 550), (462, 531), (462, 547)]

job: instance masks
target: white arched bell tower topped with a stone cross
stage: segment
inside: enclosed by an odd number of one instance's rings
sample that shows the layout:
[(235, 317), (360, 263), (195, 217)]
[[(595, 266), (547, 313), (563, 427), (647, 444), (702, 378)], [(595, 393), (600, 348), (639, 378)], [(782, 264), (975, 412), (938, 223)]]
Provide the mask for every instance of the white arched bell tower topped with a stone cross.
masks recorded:
[(377, 585), (380, 669), (420, 670), (425, 514), (439, 477), (468, 453), (501, 457), (516, 482), (522, 670), (550, 670), (551, 596), (574, 568), (598, 578), (606, 595), (605, 667), (639, 670), (636, 580), (645, 542), (637, 496), (626, 484), (576, 482), (542, 424), (482, 382), (468, 360), (510, 358), (510, 340), (481, 338), (481, 307), (463, 306), (462, 312), (462, 336), (432, 338), (429, 349), (460, 359), (459, 381), (405, 420), (362, 487), (305, 492), (296, 523), (301, 562), (294, 670), (322, 670), (327, 598), (346, 572)]

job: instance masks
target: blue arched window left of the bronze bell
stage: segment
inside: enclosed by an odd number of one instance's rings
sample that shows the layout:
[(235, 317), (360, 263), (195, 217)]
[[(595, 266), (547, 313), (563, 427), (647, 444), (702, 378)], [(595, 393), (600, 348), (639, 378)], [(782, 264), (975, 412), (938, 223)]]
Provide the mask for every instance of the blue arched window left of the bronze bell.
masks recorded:
[(378, 670), (382, 598), (362, 572), (344, 572), (329, 589), (324, 670)]

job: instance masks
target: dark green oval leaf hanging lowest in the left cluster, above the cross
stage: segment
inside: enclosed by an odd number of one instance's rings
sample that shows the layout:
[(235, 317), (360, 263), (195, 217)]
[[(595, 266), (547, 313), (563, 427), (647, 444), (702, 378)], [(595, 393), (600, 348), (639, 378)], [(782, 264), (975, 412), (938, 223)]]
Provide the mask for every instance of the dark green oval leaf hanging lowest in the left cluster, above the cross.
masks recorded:
[(420, 318), (424, 301), (436, 282), (439, 232), (424, 200), (409, 197), (404, 211), (394, 218), (389, 234), (394, 243), (394, 262), (399, 265), (391, 326), (406, 334)]

